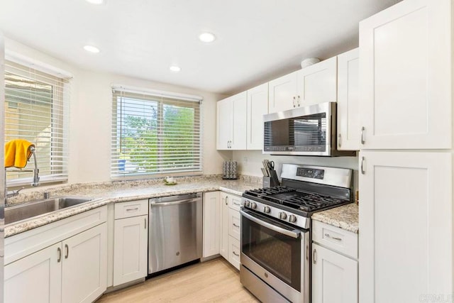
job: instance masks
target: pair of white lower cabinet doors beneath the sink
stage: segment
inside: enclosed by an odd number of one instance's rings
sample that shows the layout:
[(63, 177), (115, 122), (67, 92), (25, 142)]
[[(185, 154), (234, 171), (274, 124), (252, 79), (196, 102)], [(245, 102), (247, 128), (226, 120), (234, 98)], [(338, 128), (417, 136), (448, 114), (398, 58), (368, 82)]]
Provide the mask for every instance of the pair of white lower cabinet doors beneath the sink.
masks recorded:
[(5, 302), (93, 302), (106, 290), (106, 223), (5, 266)]

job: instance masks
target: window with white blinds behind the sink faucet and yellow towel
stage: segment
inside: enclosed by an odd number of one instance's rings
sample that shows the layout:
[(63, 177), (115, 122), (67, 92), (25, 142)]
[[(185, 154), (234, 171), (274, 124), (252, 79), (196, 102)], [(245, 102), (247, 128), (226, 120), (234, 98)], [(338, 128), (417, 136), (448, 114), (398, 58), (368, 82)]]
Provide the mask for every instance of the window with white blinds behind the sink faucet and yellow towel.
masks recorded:
[[(45, 68), (43, 68), (45, 70)], [(43, 72), (35, 64), (5, 64), (5, 143), (16, 138), (35, 144), (40, 182), (67, 180), (67, 123), (69, 82)], [(8, 186), (31, 184), (33, 157), (19, 171), (7, 169)]]

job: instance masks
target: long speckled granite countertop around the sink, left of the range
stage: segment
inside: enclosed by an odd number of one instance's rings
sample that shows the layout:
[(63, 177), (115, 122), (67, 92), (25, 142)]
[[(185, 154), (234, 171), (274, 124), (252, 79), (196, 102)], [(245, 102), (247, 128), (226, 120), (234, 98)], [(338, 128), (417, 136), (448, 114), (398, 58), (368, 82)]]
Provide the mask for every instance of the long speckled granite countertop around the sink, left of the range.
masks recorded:
[(35, 190), (33, 192), (30, 191), (24, 194), (21, 193), (21, 195), (15, 197), (16, 199), (14, 199), (13, 204), (30, 201), (31, 199), (42, 199), (44, 192), (49, 192), (51, 197), (65, 195), (93, 197), (96, 200), (68, 209), (53, 211), (52, 213), (38, 216), (34, 219), (8, 224), (4, 229), (5, 238), (110, 203), (188, 194), (192, 192), (214, 192), (217, 190), (240, 196), (247, 189), (261, 187), (262, 182), (262, 178), (248, 176), (242, 176), (239, 180), (222, 180), (218, 175), (180, 177), (175, 179), (177, 180), (177, 184), (175, 185), (165, 185), (162, 180), (118, 181), (71, 184)]

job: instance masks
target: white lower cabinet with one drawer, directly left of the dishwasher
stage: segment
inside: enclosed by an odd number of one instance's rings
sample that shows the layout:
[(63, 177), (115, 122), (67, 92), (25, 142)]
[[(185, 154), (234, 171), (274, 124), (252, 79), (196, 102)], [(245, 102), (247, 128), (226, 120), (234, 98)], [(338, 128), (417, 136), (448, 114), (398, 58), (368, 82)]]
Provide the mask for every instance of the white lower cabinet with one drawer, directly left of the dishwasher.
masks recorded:
[(115, 218), (114, 286), (117, 286), (148, 273), (148, 200), (116, 204)]

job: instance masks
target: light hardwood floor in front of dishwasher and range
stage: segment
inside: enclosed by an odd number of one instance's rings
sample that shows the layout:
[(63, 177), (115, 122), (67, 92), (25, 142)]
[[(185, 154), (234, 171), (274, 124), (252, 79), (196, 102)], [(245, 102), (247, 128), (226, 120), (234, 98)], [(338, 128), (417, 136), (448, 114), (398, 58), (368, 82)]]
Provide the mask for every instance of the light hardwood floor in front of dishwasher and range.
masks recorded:
[(153, 277), (111, 292), (97, 303), (259, 302), (240, 283), (240, 274), (223, 258)]

